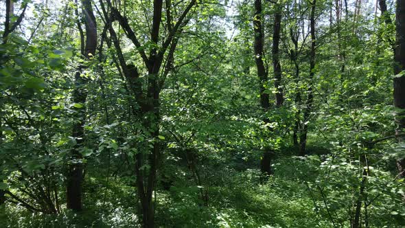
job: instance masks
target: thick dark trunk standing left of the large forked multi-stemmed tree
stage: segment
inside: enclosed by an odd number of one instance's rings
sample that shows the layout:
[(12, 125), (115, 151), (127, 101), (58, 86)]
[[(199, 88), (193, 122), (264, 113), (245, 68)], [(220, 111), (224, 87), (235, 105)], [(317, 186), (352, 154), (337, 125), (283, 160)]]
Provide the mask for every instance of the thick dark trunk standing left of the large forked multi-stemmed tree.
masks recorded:
[[(84, 25), (86, 27), (86, 43), (81, 45), (81, 52), (85, 58), (95, 56), (95, 49), (97, 46), (97, 25), (95, 16), (91, 5), (91, 0), (82, 0), (82, 11), (84, 15)], [(80, 34), (82, 35), (81, 25)], [(84, 36), (81, 36), (81, 43), (83, 44)], [(82, 104), (81, 108), (76, 108), (76, 123), (73, 124), (72, 137), (76, 139), (76, 146), (71, 150), (71, 161), (68, 165), (67, 173), (67, 208), (75, 211), (82, 209), (82, 182), (83, 182), (83, 166), (81, 163), (82, 155), (80, 150), (84, 144), (84, 123), (86, 120), (86, 103), (87, 91), (86, 80), (82, 78), (82, 70), (84, 66), (80, 66), (75, 75), (76, 88), (73, 91), (73, 102)]]

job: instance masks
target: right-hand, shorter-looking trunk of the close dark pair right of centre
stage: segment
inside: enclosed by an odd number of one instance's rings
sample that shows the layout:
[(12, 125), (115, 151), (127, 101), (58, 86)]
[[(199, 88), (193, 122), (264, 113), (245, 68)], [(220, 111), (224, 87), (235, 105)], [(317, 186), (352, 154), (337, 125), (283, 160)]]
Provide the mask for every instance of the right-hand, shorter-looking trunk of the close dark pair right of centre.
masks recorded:
[(275, 98), (276, 98), (276, 107), (283, 105), (283, 89), (281, 88), (281, 64), (279, 56), (279, 44), (280, 44), (280, 30), (281, 30), (281, 5), (275, 5), (275, 23), (273, 30), (273, 68), (275, 76)]

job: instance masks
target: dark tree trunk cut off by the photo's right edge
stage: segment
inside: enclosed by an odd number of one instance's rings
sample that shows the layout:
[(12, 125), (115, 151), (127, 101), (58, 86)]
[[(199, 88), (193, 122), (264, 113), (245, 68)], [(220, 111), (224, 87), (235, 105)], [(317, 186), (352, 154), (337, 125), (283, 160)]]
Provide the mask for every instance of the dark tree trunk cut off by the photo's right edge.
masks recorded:
[[(396, 15), (396, 39), (395, 39), (395, 56), (394, 56), (394, 105), (400, 111), (395, 115), (395, 135), (398, 135), (400, 141), (404, 141), (404, 137), (400, 135), (404, 133), (405, 128), (405, 76), (400, 73), (405, 70), (405, 0), (397, 0)], [(400, 158), (397, 161), (397, 168), (402, 178), (405, 177), (405, 159)]]

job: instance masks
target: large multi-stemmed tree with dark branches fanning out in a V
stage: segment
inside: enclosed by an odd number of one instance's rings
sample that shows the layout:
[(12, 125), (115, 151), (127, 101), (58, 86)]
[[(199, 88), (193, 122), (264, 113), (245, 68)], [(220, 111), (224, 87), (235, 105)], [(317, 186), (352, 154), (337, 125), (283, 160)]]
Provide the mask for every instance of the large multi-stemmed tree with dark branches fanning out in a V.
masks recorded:
[[(159, 95), (163, 88), (165, 76), (167, 71), (163, 69), (170, 69), (172, 58), (176, 45), (178, 43), (178, 33), (183, 30), (187, 25), (189, 19), (187, 14), (196, 5), (196, 0), (191, 0), (185, 5), (185, 8), (178, 19), (174, 22), (172, 16), (172, 1), (165, 1), (165, 14), (163, 14), (163, 1), (153, 1), (153, 15), (152, 27), (150, 29), (150, 36), (148, 37), (149, 54), (146, 53), (145, 47), (139, 42), (137, 34), (135, 34), (126, 16), (123, 16), (117, 8), (115, 8), (110, 1), (107, 1), (108, 8), (111, 14), (108, 15), (104, 3), (100, 2), (103, 8), (104, 19), (106, 27), (110, 32), (111, 40), (117, 52), (119, 66), (122, 69), (124, 77), (130, 88), (130, 93), (135, 95), (136, 105), (139, 109), (132, 109), (134, 117), (141, 121), (143, 127), (142, 133), (150, 139), (150, 141), (143, 141), (139, 144), (138, 152), (136, 155), (136, 175), (137, 175), (137, 192), (141, 202), (141, 215), (143, 227), (154, 227), (154, 203), (152, 201), (152, 194), (156, 185), (157, 170), (159, 165), (159, 158), (161, 157), (161, 140), (160, 132), (160, 105), (161, 100)], [(165, 17), (163, 17), (165, 16)], [(161, 35), (161, 27), (163, 26), (163, 19), (165, 20), (165, 36)], [(118, 21), (122, 26), (127, 38), (137, 47), (137, 52), (141, 57), (143, 67), (146, 69), (148, 77), (146, 87), (139, 83), (139, 69), (135, 65), (127, 63), (124, 55), (122, 54), (122, 47), (117, 38), (117, 34), (113, 28), (113, 21)], [(165, 38), (164, 38), (165, 37)], [(159, 46), (161, 40), (162, 45)]]

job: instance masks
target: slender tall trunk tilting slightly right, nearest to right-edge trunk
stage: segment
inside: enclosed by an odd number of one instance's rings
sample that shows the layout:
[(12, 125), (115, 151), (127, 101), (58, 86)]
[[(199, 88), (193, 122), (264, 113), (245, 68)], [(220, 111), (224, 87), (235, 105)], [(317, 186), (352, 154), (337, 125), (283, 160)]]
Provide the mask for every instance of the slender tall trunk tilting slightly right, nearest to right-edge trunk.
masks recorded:
[(307, 135), (308, 135), (308, 121), (310, 119), (310, 114), (312, 111), (312, 106), (314, 102), (314, 94), (312, 91), (312, 80), (314, 78), (315, 70), (315, 48), (316, 48), (316, 38), (315, 38), (315, 8), (316, 0), (311, 3), (311, 15), (310, 15), (310, 27), (311, 27), (311, 49), (310, 49), (310, 77), (308, 84), (308, 98), (305, 102), (305, 110), (303, 114), (303, 129), (300, 134), (300, 154), (305, 155), (305, 148), (307, 145)]

